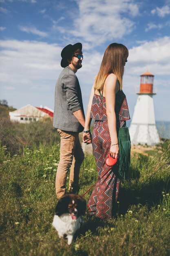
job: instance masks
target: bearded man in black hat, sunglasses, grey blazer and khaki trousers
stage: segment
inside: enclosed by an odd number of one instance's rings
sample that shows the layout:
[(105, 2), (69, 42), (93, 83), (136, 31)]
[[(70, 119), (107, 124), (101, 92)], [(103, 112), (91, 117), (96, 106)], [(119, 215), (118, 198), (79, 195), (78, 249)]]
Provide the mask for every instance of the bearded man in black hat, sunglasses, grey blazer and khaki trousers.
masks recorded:
[(66, 177), (70, 169), (69, 191), (78, 189), (79, 169), (84, 153), (79, 132), (84, 129), (85, 118), (82, 93), (75, 73), (82, 67), (82, 44), (67, 45), (61, 52), (62, 70), (55, 87), (53, 126), (60, 135), (60, 162), (58, 164), (55, 191), (59, 199), (65, 193)]

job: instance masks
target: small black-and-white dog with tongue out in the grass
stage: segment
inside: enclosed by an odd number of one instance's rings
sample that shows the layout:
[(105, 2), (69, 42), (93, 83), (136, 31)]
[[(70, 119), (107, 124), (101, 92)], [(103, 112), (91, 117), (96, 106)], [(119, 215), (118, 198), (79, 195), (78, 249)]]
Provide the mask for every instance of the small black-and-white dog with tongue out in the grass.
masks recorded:
[(82, 226), (81, 216), (86, 211), (86, 200), (80, 195), (66, 194), (57, 202), (52, 226), (59, 237), (67, 236), (71, 245), (75, 232)]

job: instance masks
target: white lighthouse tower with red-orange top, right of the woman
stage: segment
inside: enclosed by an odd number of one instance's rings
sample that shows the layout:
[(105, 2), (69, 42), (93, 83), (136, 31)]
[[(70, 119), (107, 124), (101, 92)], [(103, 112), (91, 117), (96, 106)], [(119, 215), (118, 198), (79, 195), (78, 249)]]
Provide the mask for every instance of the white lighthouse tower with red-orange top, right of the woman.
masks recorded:
[(134, 145), (153, 146), (160, 142), (155, 125), (153, 80), (154, 75), (149, 71), (141, 74), (140, 92), (137, 93), (139, 96), (129, 128), (131, 144)]

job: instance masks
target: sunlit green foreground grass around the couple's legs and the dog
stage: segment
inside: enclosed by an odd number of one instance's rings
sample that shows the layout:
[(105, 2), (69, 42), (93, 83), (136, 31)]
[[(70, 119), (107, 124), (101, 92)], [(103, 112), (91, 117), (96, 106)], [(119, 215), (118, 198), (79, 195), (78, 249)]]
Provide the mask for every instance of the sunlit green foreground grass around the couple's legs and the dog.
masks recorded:
[[(170, 254), (170, 143), (162, 154), (131, 158), (129, 178), (121, 184), (115, 218), (84, 216), (84, 226), (68, 246), (51, 227), (56, 204), (55, 173), (59, 144), (23, 147), (9, 154), (0, 147), (0, 255), (132, 256)], [(97, 179), (87, 156), (80, 171), (79, 194)], [(67, 179), (68, 187), (68, 179)], [(85, 198), (88, 201), (91, 192)]]

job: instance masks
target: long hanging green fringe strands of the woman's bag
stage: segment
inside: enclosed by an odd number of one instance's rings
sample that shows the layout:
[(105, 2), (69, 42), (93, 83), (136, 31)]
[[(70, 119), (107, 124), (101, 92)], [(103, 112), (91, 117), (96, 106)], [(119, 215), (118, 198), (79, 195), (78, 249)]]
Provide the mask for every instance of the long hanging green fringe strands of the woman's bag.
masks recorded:
[(120, 141), (120, 138), (118, 136), (118, 141), (120, 152), (118, 173), (122, 178), (126, 178), (130, 166), (130, 140)]

